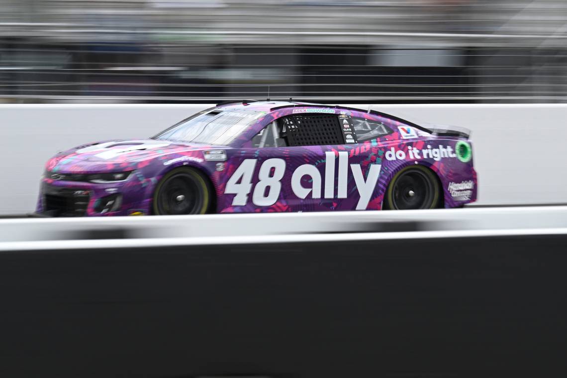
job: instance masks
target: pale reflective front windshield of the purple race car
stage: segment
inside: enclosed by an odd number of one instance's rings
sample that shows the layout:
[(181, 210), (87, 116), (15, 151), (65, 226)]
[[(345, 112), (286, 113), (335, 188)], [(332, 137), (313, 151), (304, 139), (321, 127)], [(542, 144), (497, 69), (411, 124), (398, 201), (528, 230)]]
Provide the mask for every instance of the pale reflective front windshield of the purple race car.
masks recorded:
[(227, 146), (264, 114), (253, 109), (213, 109), (179, 122), (154, 139)]

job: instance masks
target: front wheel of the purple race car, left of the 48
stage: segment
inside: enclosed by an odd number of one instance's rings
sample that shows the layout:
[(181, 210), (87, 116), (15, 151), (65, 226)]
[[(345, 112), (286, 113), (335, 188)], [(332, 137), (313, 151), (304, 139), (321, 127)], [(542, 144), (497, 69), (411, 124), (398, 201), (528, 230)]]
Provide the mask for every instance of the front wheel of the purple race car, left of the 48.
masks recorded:
[(166, 173), (154, 192), (155, 215), (205, 214), (211, 203), (208, 180), (193, 168)]

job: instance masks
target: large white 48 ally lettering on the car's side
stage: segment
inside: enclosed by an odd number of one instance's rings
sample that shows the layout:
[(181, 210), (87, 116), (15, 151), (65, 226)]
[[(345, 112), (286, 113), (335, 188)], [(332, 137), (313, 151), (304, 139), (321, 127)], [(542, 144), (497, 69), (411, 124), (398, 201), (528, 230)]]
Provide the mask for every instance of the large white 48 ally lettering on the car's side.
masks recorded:
[[(232, 206), (244, 206), (248, 202), (248, 194), (252, 190), (252, 175), (256, 168), (258, 159), (244, 159), (242, 164), (234, 171), (229, 181), (226, 183), (225, 194), (236, 194), (232, 199)], [(324, 190), (321, 193), (321, 173), (315, 165), (303, 164), (295, 168), (291, 175), (291, 190), (295, 196), (306, 198), (311, 193), (311, 198), (346, 198), (347, 194), (347, 174), (349, 167), (348, 152), (338, 152), (338, 185), (337, 197), (335, 197), (335, 152), (325, 152), (325, 180)], [(281, 179), (284, 177), (286, 163), (284, 159), (267, 159), (262, 163), (254, 192), (252, 193), (252, 203), (256, 206), (272, 206), (280, 197), (282, 188)], [(382, 164), (370, 164), (369, 172), (364, 179), (360, 164), (350, 164), (354, 184), (360, 195), (356, 209), (365, 210), (378, 176)], [(273, 170), (273, 174), (270, 173)], [(301, 184), (303, 176), (311, 177), (311, 188), (305, 188)]]

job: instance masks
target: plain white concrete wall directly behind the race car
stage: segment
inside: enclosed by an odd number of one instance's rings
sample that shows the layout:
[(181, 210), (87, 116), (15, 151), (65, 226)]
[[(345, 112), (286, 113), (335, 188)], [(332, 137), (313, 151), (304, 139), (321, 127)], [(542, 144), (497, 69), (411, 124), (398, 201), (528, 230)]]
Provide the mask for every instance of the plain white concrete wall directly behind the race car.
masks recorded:
[[(0, 105), (0, 215), (33, 211), (45, 161), (101, 139), (145, 138), (210, 105)], [(350, 105), (367, 108), (367, 105)], [(371, 105), (471, 129), (479, 204), (567, 203), (567, 105)]]

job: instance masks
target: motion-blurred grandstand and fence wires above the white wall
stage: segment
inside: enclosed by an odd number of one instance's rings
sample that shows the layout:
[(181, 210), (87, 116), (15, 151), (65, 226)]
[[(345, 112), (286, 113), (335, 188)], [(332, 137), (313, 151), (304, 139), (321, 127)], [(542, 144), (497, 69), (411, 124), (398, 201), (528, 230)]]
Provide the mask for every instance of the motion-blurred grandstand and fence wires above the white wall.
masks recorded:
[(565, 103), (565, 0), (0, 0), (2, 103)]

